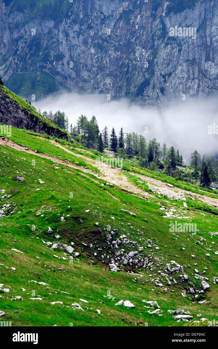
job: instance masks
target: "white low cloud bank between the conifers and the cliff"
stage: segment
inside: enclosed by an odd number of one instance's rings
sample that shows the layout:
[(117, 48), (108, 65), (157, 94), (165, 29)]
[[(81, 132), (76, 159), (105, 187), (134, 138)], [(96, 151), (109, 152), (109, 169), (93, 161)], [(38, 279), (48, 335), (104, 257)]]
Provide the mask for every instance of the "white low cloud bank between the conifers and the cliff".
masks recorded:
[[(167, 147), (171, 145), (179, 149), (180, 154), (189, 163), (190, 153), (195, 149), (203, 156), (217, 157), (218, 134), (208, 134), (208, 125), (218, 125), (217, 98), (187, 99), (170, 103), (165, 107), (139, 106), (130, 103), (127, 98), (118, 101), (107, 100), (106, 95), (80, 95), (76, 93), (60, 93), (50, 95), (40, 101), (34, 101), (37, 110), (58, 109), (64, 111), (73, 126), (80, 114), (91, 119), (95, 115), (100, 131), (106, 125), (111, 132), (112, 127), (118, 132), (137, 132), (145, 136), (148, 142), (156, 138)], [(148, 127), (148, 133), (145, 133)]]

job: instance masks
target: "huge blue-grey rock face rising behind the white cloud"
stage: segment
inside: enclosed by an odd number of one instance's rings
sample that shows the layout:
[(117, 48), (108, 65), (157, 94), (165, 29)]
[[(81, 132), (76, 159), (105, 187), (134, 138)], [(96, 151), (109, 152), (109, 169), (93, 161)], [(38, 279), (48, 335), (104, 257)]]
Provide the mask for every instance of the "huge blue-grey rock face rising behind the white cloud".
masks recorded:
[[(0, 0), (3, 81), (35, 70), (72, 91), (147, 103), (217, 91), (216, 0), (50, 3)], [(170, 36), (176, 25), (196, 38)]]

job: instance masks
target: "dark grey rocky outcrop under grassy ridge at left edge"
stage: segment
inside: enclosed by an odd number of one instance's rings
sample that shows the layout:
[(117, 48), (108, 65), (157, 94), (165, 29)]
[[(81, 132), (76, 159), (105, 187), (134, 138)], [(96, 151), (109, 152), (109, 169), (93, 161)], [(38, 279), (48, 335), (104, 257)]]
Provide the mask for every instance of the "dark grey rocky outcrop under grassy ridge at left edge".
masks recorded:
[(26, 128), (41, 134), (48, 134), (71, 142), (68, 134), (60, 128), (47, 124), (40, 117), (28, 113), (5, 92), (0, 94), (0, 122), (17, 128)]

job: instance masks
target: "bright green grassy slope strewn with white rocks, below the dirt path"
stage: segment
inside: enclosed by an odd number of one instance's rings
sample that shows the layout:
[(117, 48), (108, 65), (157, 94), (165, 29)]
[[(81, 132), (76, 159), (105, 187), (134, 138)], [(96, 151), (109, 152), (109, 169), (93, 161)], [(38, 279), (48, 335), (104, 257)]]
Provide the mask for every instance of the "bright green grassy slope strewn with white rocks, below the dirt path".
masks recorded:
[[(21, 130), (17, 130), (16, 136), (18, 133), (21, 136)], [(13, 136), (15, 137), (14, 132), (12, 132), (12, 140)], [(46, 147), (45, 152), (48, 154), (57, 157), (65, 155), (61, 149), (52, 144), (48, 145), (46, 140), (28, 135), (25, 141), (34, 144), (33, 149), (37, 151), (44, 152)], [(24, 144), (23, 139), (21, 144)], [(218, 250), (218, 237), (211, 237), (208, 233), (217, 230), (215, 215), (204, 211), (205, 216), (202, 216), (199, 210), (195, 209), (193, 202), (187, 200), (188, 207), (193, 205), (191, 212), (187, 214), (192, 215), (192, 220), (189, 222), (197, 223), (197, 229), (201, 231), (193, 237), (190, 233), (178, 233), (177, 236), (169, 232), (170, 220), (162, 218), (163, 214), (159, 207), (162, 203), (167, 207), (182, 210), (181, 202), (172, 202), (165, 198), (145, 200), (140, 196), (128, 194), (120, 188), (100, 188), (103, 181), (99, 180), (99, 183), (96, 183), (97, 179), (93, 181), (92, 175), (86, 174), (85, 177), (81, 171), (72, 168), (69, 168), (71, 171), (69, 173), (63, 170), (68, 169), (67, 166), (62, 165), (59, 165), (59, 169), (55, 169), (52, 161), (8, 147), (0, 147), (0, 156), (0, 189), (5, 188), (5, 193), (11, 193), (9, 201), (17, 205), (14, 215), (0, 218), (0, 261), (3, 264), (0, 265), (0, 283), (3, 283), (4, 287), (7, 285), (11, 287), (10, 294), (1, 294), (0, 310), (5, 311), (4, 320), (11, 321), (12, 326), (53, 326), (54, 324), (58, 326), (70, 326), (70, 324), (73, 326), (137, 326), (145, 323), (148, 326), (181, 326), (172, 320), (171, 314), (167, 313), (168, 309), (177, 309), (180, 306), (191, 311), (195, 320), (198, 320), (196, 318), (198, 313), (202, 313), (209, 320), (216, 318), (218, 285), (213, 284), (211, 280), (218, 275), (217, 255), (206, 250), (206, 248)], [(70, 154), (66, 156), (72, 163), (75, 161)], [(35, 166), (32, 165), (33, 159), (36, 161)], [(77, 159), (77, 161), (81, 160)], [(14, 181), (15, 175), (23, 176), (25, 182)], [(39, 184), (38, 179), (44, 180), (45, 184)], [(36, 191), (37, 188), (40, 190)], [(73, 193), (73, 198), (69, 198), (70, 193)], [(7, 201), (2, 200), (1, 207)], [(120, 211), (121, 208), (133, 211), (137, 216), (130, 216)], [(85, 213), (86, 209), (90, 209), (90, 212)], [(202, 207), (202, 211), (203, 209)], [(18, 213), (18, 211), (21, 212)], [(44, 216), (36, 217), (38, 211)], [(60, 222), (60, 216), (63, 214), (70, 216), (66, 217), (65, 222)], [(115, 220), (111, 216), (114, 216)], [(83, 220), (83, 224), (78, 223), (78, 218)], [(96, 228), (95, 222), (99, 222), (99, 228)], [(108, 224), (111, 229), (117, 228), (119, 235), (122, 234), (120, 230), (125, 229), (125, 234), (130, 233), (131, 240), (137, 241), (144, 247), (145, 257), (148, 256), (149, 261), (154, 262), (153, 272), (147, 269), (142, 269), (140, 272), (138, 270), (138, 275), (109, 272), (107, 264), (102, 262), (101, 254), (106, 253), (106, 256), (114, 254), (105, 242), (107, 231), (100, 231), (107, 228)], [(32, 226), (36, 226), (35, 231), (31, 230)], [(46, 235), (48, 226), (52, 227), (54, 233), (59, 230), (62, 242), (75, 243), (73, 247), (76, 252), (80, 252), (79, 260), (74, 258), (71, 264), (69, 260), (53, 257), (54, 254), (59, 257), (64, 254), (63, 250), (53, 251), (42, 243), (41, 239), (56, 241), (54, 234)], [(130, 228), (131, 226), (133, 229)], [(201, 236), (207, 240), (207, 245), (206, 242), (203, 242), (203, 245), (195, 244)], [(151, 238), (160, 250), (155, 250), (154, 246), (148, 247), (146, 242), (148, 238)], [(92, 243), (94, 246), (84, 247), (82, 242), (88, 246)], [(183, 245), (185, 250), (182, 250)], [(102, 251), (98, 250), (99, 246)], [(11, 248), (16, 248), (24, 254), (11, 251)], [(127, 245), (126, 250), (131, 251), (135, 248)], [(97, 257), (94, 257), (94, 252), (97, 253)], [(205, 255), (208, 252), (210, 257)], [(191, 254), (195, 254), (195, 259), (191, 258)], [(196, 301), (193, 303), (189, 294), (184, 298), (181, 291), (186, 289), (188, 284), (183, 283), (178, 274), (171, 275), (178, 281), (177, 285), (168, 287), (163, 283), (163, 288), (168, 288), (167, 292), (155, 286), (152, 280), (160, 277), (158, 270), (164, 272), (164, 266), (170, 260), (175, 260), (184, 266), (184, 272), (189, 275), (189, 281), (195, 280), (194, 268), (203, 272), (204, 267), (208, 267), (205, 276), (209, 279), (210, 291), (205, 292), (198, 299), (207, 299), (207, 303), (202, 305)], [(107, 257), (105, 261), (108, 263)], [(194, 266), (194, 263), (197, 263), (197, 266)], [(16, 270), (12, 270), (11, 267), (15, 267)], [(63, 270), (60, 270), (60, 267)], [(149, 277), (150, 274), (153, 276)], [(31, 280), (46, 282), (48, 286), (35, 284)], [(195, 280), (195, 284), (198, 283), (199, 281)], [(22, 292), (21, 287), (26, 291)], [(30, 300), (29, 298), (33, 297), (32, 290), (36, 290), (36, 295), (45, 298), (42, 301)], [(103, 297), (107, 296), (108, 290), (112, 296), (116, 297), (116, 301), (129, 299), (135, 304), (135, 309), (116, 307), (115, 300)], [(69, 294), (60, 291), (66, 291)], [(23, 297), (23, 302), (11, 300), (20, 295)], [(80, 298), (88, 300), (89, 304), (83, 304)], [(163, 310), (163, 316), (151, 317), (147, 313), (148, 309), (141, 302), (142, 299), (157, 300)], [(50, 302), (53, 301), (62, 301), (65, 306), (51, 305)], [(72, 302), (83, 305), (85, 311), (72, 310)], [(92, 309), (87, 310), (86, 305)], [(96, 309), (100, 309), (103, 315), (98, 315)], [(15, 310), (19, 310), (18, 313), (13, 313)]]

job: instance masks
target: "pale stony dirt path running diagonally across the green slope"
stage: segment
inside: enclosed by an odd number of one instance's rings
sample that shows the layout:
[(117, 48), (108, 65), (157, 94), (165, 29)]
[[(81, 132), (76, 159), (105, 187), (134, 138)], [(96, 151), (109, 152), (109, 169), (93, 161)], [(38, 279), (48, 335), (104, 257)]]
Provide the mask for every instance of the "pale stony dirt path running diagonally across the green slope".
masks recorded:
[[(37, 136), (37, 137), (45, 140), (45, 138), (43, 138), (41, 136)], [(132, 193), (141, 194), (143, 197), (145, 197), (145, 195), (154, 196), (154, 195), (147, 193), (146, 191), (141, 190), (140, 188), (134, 186), (134, 184), (132, 184), (131, 181), (129, 181), (126, 178), (122, 169), (120, 169), (118, 167), (112, 168), (111, 166), (109, 166), (106, 163), (101, 162), (99, 160), (93, 160), (93, 159), (86, 157), (85, 155), (73, 153), (73, 151), (63, 147), (60, 143), (57, 143), (54, 140), (49, 140), (49, 142), (54, 144), (56, 147), (61, 148), (62, 150), (66, 151), (69, 154), (83, 158), (87, 164), (95, 166), (96, 168), (98, 168), (101, 171), (102, 174), (95, 174), (95, 173), (93, 173), (92, 170), (85, 169), (84, 167), (81, 167), (81, 166), (72, 165), (68, 160), (61, 160), (57, 157), (49, 156), (47, 154), (35, 153), (33, 150), (19, 146), (18, 144), (14, 143), (10, 140), (0, 139), (0, 144), (5, 144), (5, 145), (7, 145), (11, 148), (14, 148), (16, 150), (25, 151), (26, 153), (29, 153), (29, 154), (33, 154), (33, 155), (37, 155), (40, 157), (44, 157), (46, 159), (50, 159), (56, 163), (64, 164), (64, 165), (67, 165), (67, 166), (74, 168), (74, 169), (80, 169), (83, 172), (92, 173), (96, 176), (96, 178), (101, 178), (101, 179), (105, 180), (106, 182), (115, 184), (115, 185), (119, 186), (120, 188), (123, 188), (123, 189), (130, 191)], [(150, 178), (150, 177), (144, 176), (142, 174), (134, 173), (134, 176), (138, 177), (139, 179), (141, 179), (149, 184), (154, 184), (156, 186), (164, 188), (165, 191), (169, 192), (169, 194), (172, 194), (174, 192), (181, 192), (181, 193), (184, 193), (188, 196), (192, 196), (193, 198), (195, 198), (197, 200), (208, 203), (209, 205), (218, 206), (218, 199), (210, 198), (209, 196), (206, 196), (204, 194), (200, 194), (200, 195), (195, 194), (195, 193), (192, 193), (192, 192), (189, 192), (189, 191), (186, 191), (184, 189), (177, 188), (177, 187), (170, 189), (169, 186), (166, 183), (162, 182), (161, 180), (158, 180), (155, 178)]]

